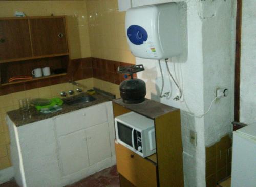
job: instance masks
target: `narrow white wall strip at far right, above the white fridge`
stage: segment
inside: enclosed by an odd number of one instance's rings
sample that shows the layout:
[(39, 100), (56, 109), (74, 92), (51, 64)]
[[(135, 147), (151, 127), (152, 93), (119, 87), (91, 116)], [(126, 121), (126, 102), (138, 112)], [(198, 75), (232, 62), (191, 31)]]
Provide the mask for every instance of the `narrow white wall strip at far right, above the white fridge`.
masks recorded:
[(256, 121), (256, 1), (243, 1), (241, 41), (240, 121)]

